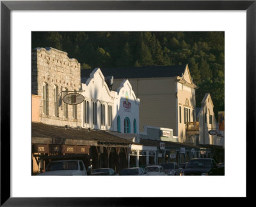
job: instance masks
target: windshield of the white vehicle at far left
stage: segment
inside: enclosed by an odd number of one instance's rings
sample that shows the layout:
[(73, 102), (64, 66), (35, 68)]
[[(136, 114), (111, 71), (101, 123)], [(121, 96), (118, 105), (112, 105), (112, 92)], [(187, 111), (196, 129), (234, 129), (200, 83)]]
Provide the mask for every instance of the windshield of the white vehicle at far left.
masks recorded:
[(62, 170), (78, 170), (78, 162), (61, 161), (50, 162), (45, 171), (62, 171)]

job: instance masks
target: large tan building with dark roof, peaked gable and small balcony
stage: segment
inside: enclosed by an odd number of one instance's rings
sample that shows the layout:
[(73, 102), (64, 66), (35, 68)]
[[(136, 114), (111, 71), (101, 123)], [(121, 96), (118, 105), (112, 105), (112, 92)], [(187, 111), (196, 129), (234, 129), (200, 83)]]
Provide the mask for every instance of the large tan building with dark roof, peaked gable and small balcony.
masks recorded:
[[(195, 89), (188, 65), (145, 66), (134, 68), (102, 68), (102, 73), (114, 77), (113, 89), (128, 79), (136, 97), (140, 98), (140, 132), (143, 126), (172, 128), (179, 142), (193, 142), (198, 134), (195, 121)], [(82, 70), (81, 77), (92, 70)], [(186, 130), (187, 124), (196, 130)], [(188, 126), (189, 127), (189, 126)]]

